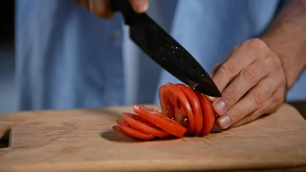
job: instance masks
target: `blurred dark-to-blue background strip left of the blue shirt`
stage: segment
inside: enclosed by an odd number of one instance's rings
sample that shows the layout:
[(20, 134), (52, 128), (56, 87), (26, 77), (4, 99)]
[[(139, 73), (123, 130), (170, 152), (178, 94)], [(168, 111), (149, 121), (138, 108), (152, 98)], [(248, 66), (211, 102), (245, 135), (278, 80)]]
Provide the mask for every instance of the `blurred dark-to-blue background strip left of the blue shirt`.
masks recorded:
[(0, 113), (15, 110), (14, 3), (0, 6)]

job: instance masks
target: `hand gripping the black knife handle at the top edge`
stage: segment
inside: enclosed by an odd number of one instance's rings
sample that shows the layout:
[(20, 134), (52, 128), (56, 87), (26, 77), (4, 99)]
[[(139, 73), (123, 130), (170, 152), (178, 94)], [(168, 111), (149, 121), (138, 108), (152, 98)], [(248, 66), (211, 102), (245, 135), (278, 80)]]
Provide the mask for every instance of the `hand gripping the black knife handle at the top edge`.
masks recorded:
[[(112, 0), (74, 0), (78, 4), (90, 10), (101, 18), (112, 18), (114, 12), (111, 10), (110, 1)], [(144, 13), (148, 9), (148, 0), (129, 0), (132, 8), (137, 13)]]

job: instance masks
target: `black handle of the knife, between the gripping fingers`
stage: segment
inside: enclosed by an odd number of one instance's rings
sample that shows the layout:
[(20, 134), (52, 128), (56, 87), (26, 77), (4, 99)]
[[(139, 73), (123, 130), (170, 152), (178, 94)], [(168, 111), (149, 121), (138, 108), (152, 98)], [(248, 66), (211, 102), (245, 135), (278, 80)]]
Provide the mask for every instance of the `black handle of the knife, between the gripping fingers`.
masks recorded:
[(112, 11), (120, 11), (123, 15), (124, 23), (131, 25), (141, 21), (142, 14), (136, 13), (128, 0), (110, 0)]

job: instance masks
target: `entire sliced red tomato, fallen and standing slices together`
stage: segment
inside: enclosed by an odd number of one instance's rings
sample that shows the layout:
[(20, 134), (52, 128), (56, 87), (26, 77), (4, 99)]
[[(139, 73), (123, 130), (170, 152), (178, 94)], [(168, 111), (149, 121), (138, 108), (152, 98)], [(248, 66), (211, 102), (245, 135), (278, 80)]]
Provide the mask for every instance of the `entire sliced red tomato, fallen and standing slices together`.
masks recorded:
[(170, 135), (207, 135), (215, 124), (212, 104), (206, 96), (184, 84), (166, 83), (159, 88), (162, 113), (134, 105), (133, 113), (122, 113), (113, 130), (139, 139), (150, 140)]

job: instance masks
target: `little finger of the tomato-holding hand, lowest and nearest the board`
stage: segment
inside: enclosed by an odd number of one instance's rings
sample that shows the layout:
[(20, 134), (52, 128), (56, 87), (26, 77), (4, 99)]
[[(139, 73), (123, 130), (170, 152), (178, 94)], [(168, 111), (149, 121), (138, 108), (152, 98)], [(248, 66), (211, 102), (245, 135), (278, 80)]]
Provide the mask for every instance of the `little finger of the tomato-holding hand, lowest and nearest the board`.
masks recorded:
[(281, 92), (279, 93), (275, 93), (273, 94), (269, 100), (267, 100), (267, 102), (265, 103), (265, 105), (254, 111), (253, 113), (245, 116), (244, 118), (242, 118), (241, 120), (239, 120), (238, 122), (236, 122), (234, 125), (231, 126), (231, 128), (233, 127), (239, 127), (241, 125), (244, 124), (248, 124), (249, 122), (259, 118), (260, 116), (262, 116), (263, 114), (271, 114), (276, 112), (284, 103), (284, 94), (282, 94)]

